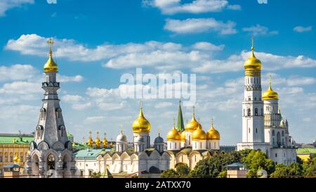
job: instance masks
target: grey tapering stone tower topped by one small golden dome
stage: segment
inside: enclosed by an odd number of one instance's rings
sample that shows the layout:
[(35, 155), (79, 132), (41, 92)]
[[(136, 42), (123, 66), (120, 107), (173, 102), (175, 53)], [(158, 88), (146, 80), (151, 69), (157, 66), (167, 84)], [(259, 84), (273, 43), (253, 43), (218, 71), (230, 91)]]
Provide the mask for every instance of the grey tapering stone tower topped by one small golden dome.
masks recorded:
[(72, 142), (67, 137), (57, 90), (58, 65), (53, 60), (53, 40), (49, 39), (49, 57), (44, 65), (44, 99), (39, 110), (39, 121), (35, 129), (34, 141), (30, 143), (26, 170), (28, 177), (63, 178), (74, 177), (75, 162)]

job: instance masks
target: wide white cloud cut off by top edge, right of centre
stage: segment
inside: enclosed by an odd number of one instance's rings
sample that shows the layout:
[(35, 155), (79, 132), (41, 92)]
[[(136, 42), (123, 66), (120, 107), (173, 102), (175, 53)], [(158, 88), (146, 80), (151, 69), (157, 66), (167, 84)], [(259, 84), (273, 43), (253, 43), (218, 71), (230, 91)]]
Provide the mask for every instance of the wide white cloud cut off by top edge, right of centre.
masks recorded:
[(240, 10), (239, 5), (229, 5), (225, 0), (195, 0), (185, 4), (182, 4), (181, 0), (143, 0), (143, 5), (159, 8), (163, 14), (168, 15), (220, 12), (225, 8)]

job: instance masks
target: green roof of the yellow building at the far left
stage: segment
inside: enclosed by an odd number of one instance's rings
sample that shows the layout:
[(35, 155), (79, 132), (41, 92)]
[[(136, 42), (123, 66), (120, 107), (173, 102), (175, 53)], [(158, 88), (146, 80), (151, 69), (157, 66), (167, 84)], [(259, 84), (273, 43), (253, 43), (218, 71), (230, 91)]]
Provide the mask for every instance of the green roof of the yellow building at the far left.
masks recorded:
[[(14, 134), (0, 134), (0, 144), (20, 144), (20, 145), (29, 145), (31, 141), (34, 140), (34, 136), (21, 136)], [(14, 142), (15, 141), (15, 142)]]

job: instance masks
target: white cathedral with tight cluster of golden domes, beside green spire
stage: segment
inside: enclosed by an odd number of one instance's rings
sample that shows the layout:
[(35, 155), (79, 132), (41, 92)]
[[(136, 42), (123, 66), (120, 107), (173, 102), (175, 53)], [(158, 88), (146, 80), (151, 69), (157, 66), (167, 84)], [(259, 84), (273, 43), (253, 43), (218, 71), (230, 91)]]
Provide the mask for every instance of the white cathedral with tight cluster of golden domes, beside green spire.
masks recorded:
[(220, 134), (213, 126), (204, 132), (202, 125), (195, 119), (195, 108), (193, 107), (192, 120), (183, 126), (183, 115), (181, 105), (178, 110), (177, 127), (167, 134), (167, 151), (171, 156), (170, 168), (176, 168), (178, 164), (186, 164), (193, 169), (199, 160), (209, 158), (220, 151)]

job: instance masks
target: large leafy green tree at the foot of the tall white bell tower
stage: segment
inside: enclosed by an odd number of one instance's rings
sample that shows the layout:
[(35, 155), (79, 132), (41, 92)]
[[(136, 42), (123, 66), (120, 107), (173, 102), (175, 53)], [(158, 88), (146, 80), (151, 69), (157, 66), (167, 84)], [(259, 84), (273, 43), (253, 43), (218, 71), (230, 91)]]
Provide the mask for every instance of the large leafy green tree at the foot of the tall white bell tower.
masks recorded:
[(265, 153), (252, 150), (246, 157), (242, 158), (242, 163), (248, 167), (248, 177), (256, 177), (258, 170), (265, 169), (268, 174), (274, 172), (275, 163), (269, 159)]

